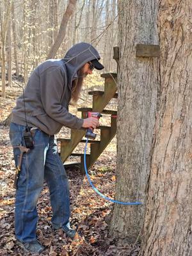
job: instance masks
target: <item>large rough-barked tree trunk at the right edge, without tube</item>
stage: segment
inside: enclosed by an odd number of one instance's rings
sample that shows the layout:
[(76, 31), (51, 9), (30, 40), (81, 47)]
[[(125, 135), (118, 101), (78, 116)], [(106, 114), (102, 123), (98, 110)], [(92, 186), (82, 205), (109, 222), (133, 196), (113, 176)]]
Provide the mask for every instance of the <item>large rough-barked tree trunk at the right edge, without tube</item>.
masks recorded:
[(192, 255), (191, 0), (160, 1), (161, 100), (142, 255)]

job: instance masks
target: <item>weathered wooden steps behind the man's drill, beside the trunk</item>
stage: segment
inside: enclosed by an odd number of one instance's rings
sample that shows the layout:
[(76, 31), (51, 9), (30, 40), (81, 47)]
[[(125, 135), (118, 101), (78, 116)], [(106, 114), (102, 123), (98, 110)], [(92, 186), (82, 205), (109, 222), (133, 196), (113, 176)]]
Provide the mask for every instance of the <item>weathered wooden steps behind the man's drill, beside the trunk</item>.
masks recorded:
[[(118, 64), (118, 47), (113, 48), (114, 56), (113, 59), (116, 60)], [(100, 129), (100, 141), (98, 140), (89, 140), (88, 143), (90, 143), (90, 154), (86, 155), (86, 166), (87, 168), (90, 168), (93, 163), (97, 160), (97, 158), (100, 156), (100, 154), (104, 151), (104, 149), (108, 146), (110, 141), (113, 139), (113, 137), (116, 134), (116, 111), (106, 110), (104, 109), (109, 101), (112, 98), (117, 98), (118, 95), (116, 93), (116, 73), (108, 73), (108, 74), (102, 74), (101, 77), (104, 77), (105, 83), (104, 83), (104, 92), (102, 91), (92, 91), (88, 92), (89, 95), (93, 95), (93, 105), (92, 108), (79, 108), (77, 111), (81, 111), (82, 118), (86, 118), (86, 113), (88, 111), (94, 111), (99, 112), (103, 114), (111, 115), (111, 126), (99, 126), (98, 129)], [(83, 140), (83, 136), (85, 134), (85, 129), (80, 130), (71, 130), (71, 136), (70, 139), (61, 139), (58, 138), (58, 141), (61, 143), (61, 151), (60, 156), (61, 160), (65, 162), (69, 156), (79, 156), (81, 157), (81, 172), (84, 173), (84, 154), (76, 154), (72, 153), (74, 151), (74, 148), (81, 143), (86, 142), (86, 140)], [(80, 163), (79, 163), (80, 164)], [(75, 166), (76, 164), (66, 164), (66, 167), (68, 166)], [(65, 166), (65, 164), (64, 164)]]

